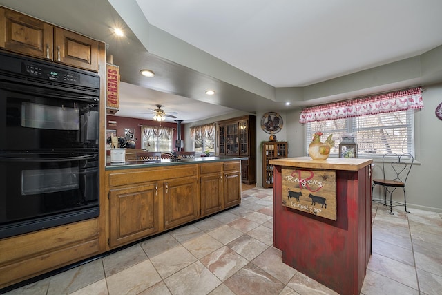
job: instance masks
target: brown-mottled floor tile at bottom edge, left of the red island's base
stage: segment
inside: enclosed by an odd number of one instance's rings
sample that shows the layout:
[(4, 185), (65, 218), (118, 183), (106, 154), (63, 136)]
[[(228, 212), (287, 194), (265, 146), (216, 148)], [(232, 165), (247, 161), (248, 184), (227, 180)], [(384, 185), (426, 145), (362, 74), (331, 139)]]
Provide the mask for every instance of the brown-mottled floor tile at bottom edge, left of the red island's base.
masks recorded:
[(279, 280), (253, 263), (249, 263), (233, 274), (224, 284), (235, 294), (242, 295), (279, 294), (285, 287)]

